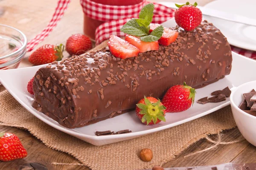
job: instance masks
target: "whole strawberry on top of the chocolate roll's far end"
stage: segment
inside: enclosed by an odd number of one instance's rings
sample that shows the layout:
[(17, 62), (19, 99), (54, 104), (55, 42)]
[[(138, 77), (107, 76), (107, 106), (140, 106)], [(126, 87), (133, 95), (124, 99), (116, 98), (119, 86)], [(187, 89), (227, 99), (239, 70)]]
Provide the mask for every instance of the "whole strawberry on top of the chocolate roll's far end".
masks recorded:
[(175, 11), (175, 21), (178, 26), (186, 31), (192, 31), (202, 22), (202, 12), (197, 8), (197, 3), (193, 5), (187, 2), (183, 5), (175, 4), (178, 9)]

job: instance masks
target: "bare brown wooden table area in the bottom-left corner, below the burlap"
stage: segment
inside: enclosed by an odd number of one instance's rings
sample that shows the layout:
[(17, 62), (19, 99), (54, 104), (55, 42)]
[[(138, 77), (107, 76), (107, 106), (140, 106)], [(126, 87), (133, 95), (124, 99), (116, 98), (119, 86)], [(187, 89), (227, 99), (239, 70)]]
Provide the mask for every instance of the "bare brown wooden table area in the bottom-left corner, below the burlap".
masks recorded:
[[(47, 167), (48, 170), (89, 170), (87, 167), (78, 165), (52, 165), (52, 162), (67, 164), (80, 163), (67, 153), (63, 153), (47, 147), (26, 130), (21, 130), (14, 127), (0, 126), (0, 132), (16, 134), (28, 152), (28, 156), (24, 159), (9, 162), (0, 161), (0, 170), (17, 170), (19, 168), (21, 168), (20, 170), (25, 170), (29, 163), (41, 164), (43, 167)], [(22, 169), (22, 167), (26, 168)]]

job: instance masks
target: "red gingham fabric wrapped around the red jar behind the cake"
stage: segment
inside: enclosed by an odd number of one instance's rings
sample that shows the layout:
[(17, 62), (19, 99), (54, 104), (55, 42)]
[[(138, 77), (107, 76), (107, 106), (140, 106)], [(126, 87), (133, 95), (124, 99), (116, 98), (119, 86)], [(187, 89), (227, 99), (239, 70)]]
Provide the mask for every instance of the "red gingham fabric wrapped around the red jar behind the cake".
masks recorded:
[[(146, 0), (131, 6), (109, 6), (95, 3), (91, 0), (80, 0), (84, 14), (94, 20), (104, 21), (95, 32), (96, 44), (109, 39), (111, 34), (125, 36), (121, 32), (122, 26), (131, 18), (138, 18), (140, 10), (148, 4)], [(174, 16), (175, 10), (166, 6), (154, 3), (153, 23), (163, 23)]]

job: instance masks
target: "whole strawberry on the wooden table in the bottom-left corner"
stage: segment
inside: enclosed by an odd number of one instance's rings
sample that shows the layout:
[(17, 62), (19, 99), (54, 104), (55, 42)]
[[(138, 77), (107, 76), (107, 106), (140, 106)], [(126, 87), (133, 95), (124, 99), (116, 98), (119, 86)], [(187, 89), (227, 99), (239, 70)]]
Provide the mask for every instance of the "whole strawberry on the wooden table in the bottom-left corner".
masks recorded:
[(0, 161), (12, 161), (27, 156), (20, 139), (12, 133), (0, 133)]

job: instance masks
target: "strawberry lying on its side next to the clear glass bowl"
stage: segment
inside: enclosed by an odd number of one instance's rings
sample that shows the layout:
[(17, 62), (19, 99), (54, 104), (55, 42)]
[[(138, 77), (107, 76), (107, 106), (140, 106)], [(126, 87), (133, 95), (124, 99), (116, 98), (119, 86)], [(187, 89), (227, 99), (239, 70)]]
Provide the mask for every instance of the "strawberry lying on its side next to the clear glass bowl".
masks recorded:
[(42, 65), (54, 61), (60, 61), (63, 57), (63, 50), (64, 45), (62, 44), (58, 46), (45, 44), (39, 47), (29, 56), (29, 62), (31, 62), (34, 65)]

